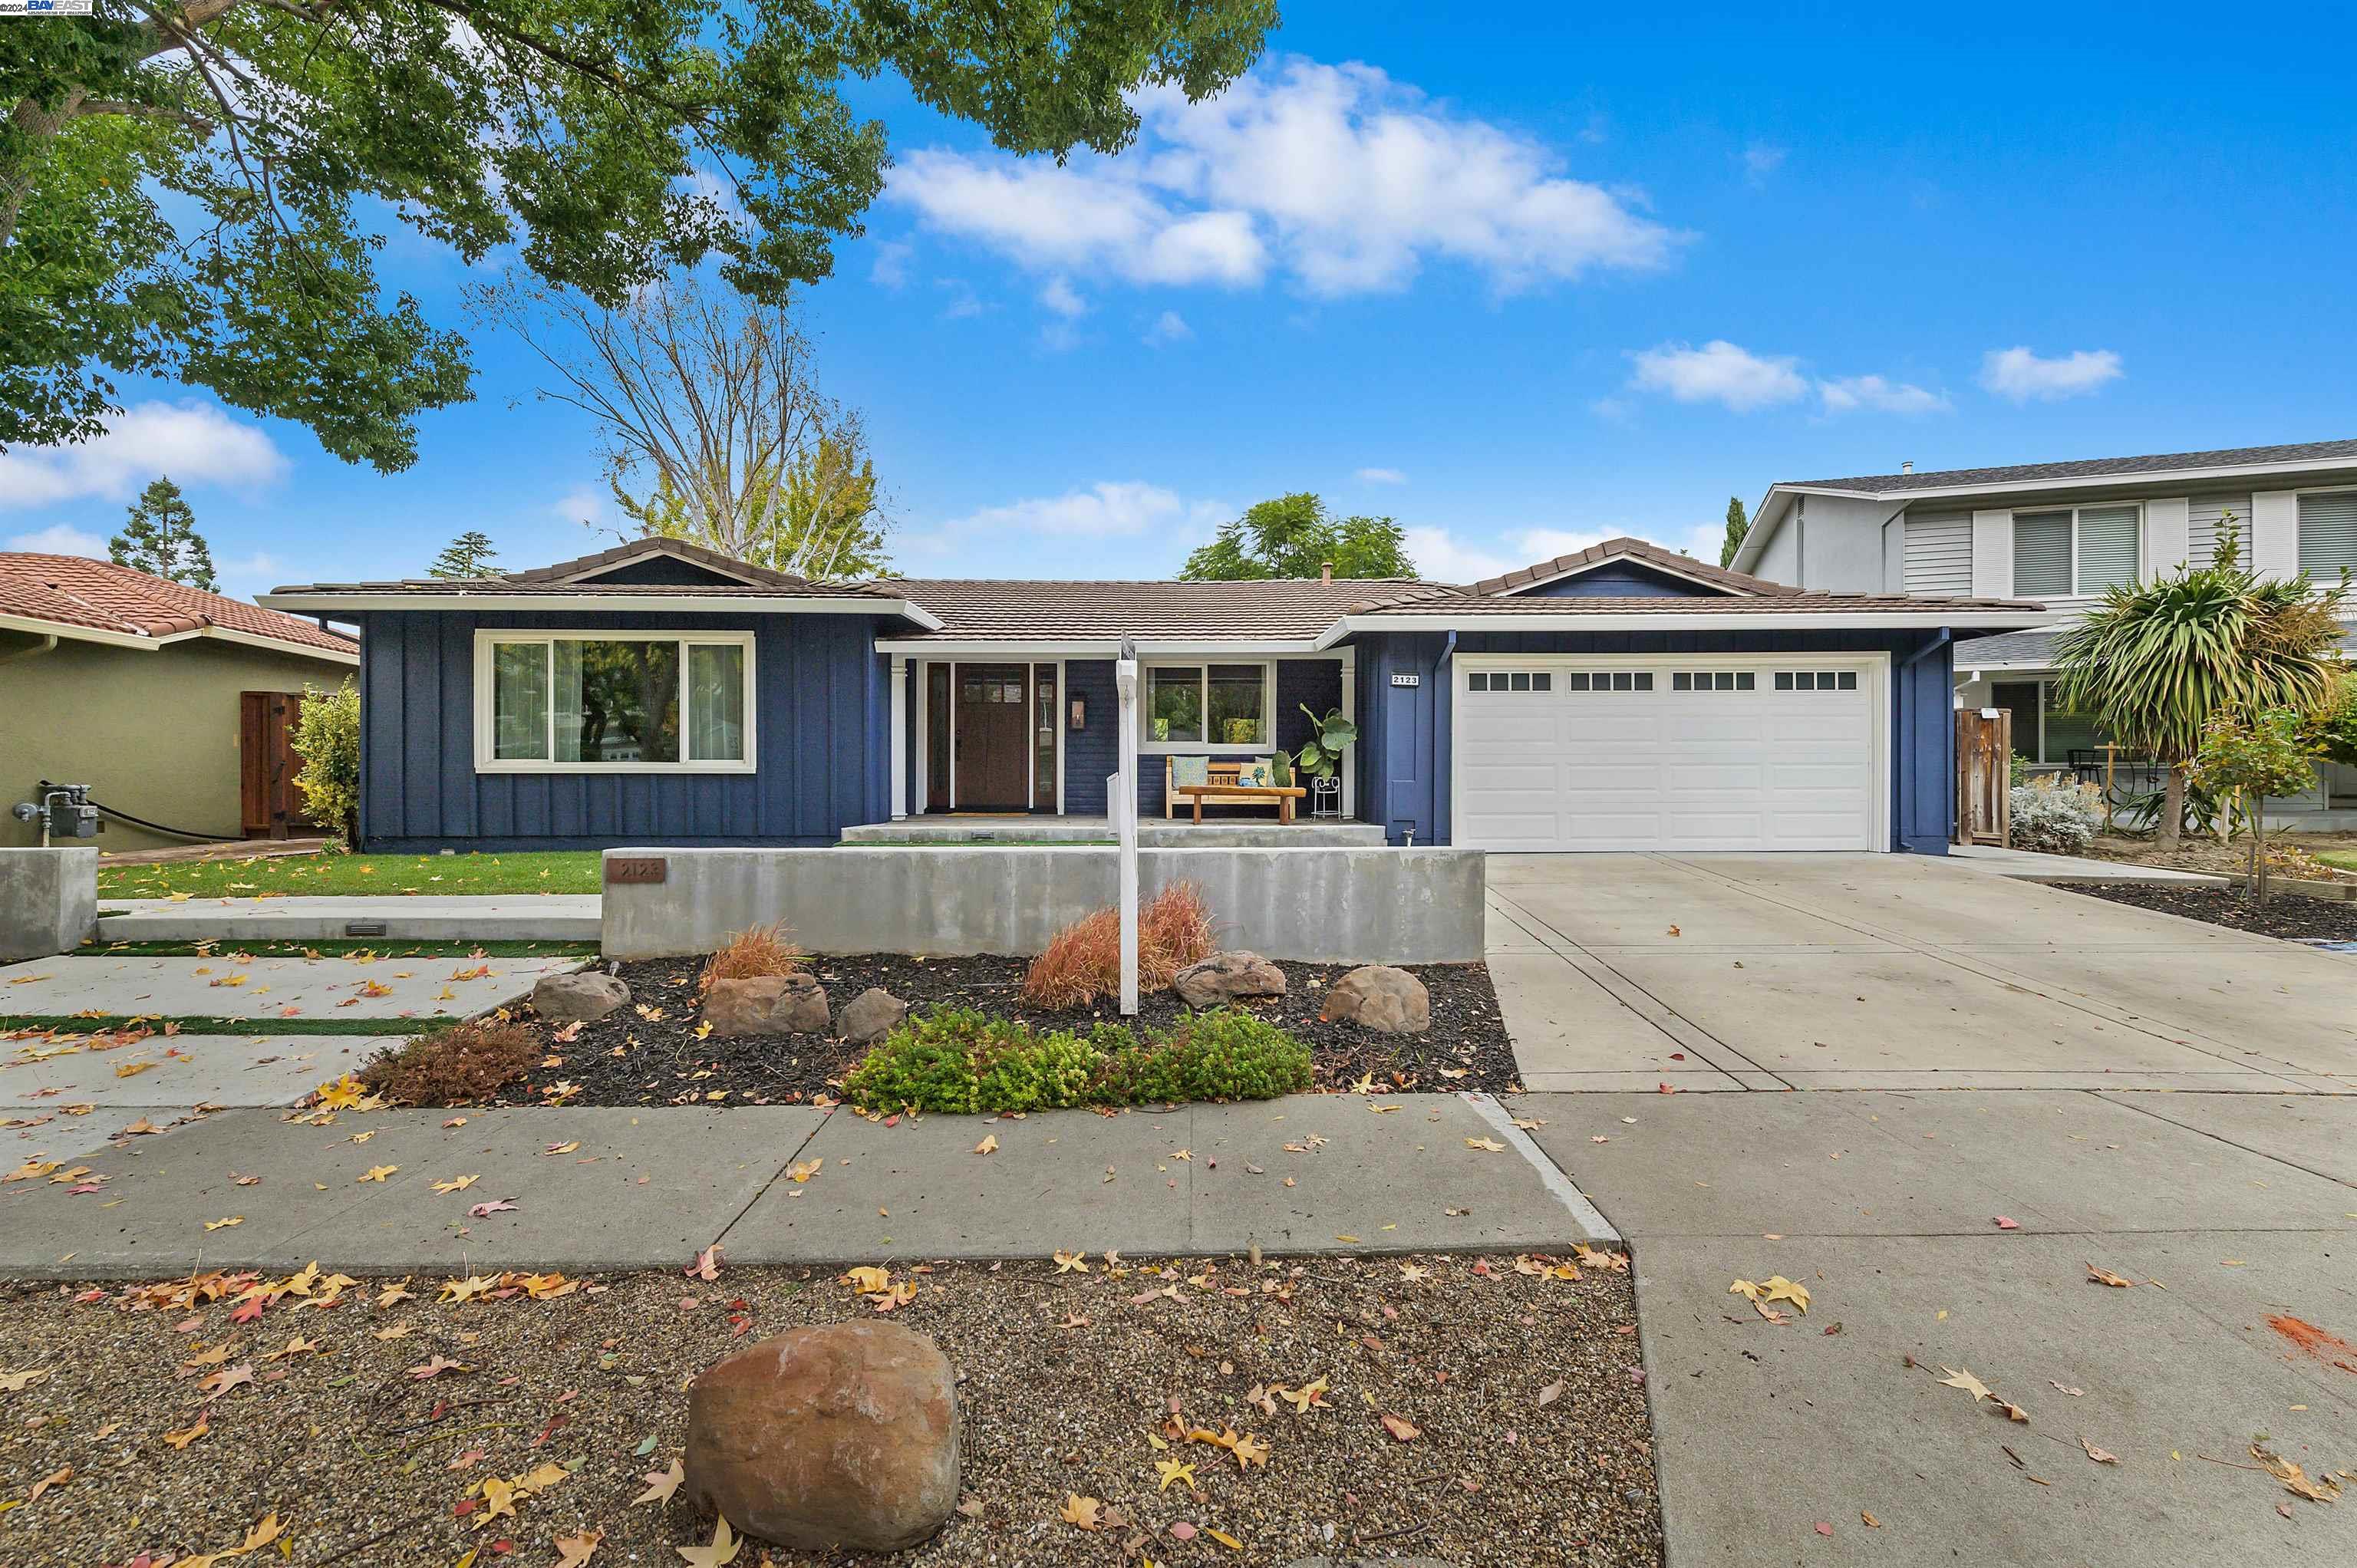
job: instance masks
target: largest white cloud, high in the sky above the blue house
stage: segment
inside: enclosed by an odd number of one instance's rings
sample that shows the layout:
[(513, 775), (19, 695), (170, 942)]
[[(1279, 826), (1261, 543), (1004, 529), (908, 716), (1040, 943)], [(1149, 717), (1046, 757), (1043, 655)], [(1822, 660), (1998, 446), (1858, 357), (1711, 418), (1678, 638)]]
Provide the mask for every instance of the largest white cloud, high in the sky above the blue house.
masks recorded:
[(1136, 104), (1146, 125), (1120, 158), (926, 149), (889, 196), (1037, 271), (1226, 288), (1280, 271), (1313, 295), (1405, 288), (1428, 257), (1527, 288), (1659, 266), (1681, 238), (1544, 144), (1374, 66), (1294, 59), (1202, 104), (1178, 87)]

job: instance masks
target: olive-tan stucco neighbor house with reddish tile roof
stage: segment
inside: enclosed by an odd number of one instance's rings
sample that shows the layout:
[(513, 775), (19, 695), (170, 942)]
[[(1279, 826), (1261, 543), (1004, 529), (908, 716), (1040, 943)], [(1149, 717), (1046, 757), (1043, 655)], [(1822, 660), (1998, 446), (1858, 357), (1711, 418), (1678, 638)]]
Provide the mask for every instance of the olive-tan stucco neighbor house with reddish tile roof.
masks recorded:
[[(0, 554), (0, 844), (40, 780), (200, 837), (302, 830), (283, 745), (304, 686), (351, 679), (361, 648), (309, 620), (82, 556)], [(97, 849), (193, 842), (101, 816)]]

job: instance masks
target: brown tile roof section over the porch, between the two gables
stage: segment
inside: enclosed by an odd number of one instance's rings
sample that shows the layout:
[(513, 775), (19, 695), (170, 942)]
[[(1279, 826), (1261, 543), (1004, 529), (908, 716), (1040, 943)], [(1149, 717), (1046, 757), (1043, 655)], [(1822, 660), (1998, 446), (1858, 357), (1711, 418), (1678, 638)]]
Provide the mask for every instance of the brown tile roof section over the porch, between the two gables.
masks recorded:
[(1412, 578), (1259, 578), (1252, 582), (1070, 582), (889, 578), (940, 618), (933, 641), (1310, 641), (1369, 599), (1452, 594)]

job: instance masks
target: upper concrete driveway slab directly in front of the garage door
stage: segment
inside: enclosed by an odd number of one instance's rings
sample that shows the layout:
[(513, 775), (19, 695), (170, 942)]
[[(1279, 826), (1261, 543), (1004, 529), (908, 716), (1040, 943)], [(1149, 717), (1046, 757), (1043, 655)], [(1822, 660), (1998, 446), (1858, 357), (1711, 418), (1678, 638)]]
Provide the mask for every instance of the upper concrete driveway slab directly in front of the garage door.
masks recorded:
[(2357, 957), (1928, 856), (1490, 856), (1530, 1089), (2357, 1089)]

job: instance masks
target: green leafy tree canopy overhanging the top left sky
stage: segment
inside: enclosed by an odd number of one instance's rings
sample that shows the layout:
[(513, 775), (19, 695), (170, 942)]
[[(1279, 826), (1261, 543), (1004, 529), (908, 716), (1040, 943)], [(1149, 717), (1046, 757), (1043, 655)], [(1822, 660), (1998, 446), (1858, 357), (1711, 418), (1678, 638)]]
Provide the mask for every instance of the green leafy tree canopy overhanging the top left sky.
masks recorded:
[(1009, 153), (1117, 153), (1275, 0), (106, 0), (0, 38), (0, 448), (85, 441), (115, 377), (417, 457), (460, 335), (377, 281), (394, 215), (601, 307), (707, 259), (775, 304), (884, 189), (846, 94), (896, 75)]

